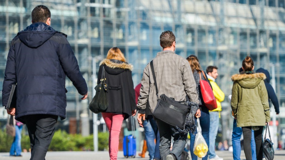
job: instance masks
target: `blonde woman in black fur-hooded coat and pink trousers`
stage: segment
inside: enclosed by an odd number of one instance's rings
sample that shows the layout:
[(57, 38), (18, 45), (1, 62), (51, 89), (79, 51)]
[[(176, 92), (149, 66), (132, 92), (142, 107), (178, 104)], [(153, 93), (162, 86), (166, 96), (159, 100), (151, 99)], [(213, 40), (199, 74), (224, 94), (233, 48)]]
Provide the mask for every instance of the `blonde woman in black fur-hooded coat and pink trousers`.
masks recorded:
[[(110, 160), (117, 159), (119, 134), (124, 119), (135, 113), (135, 90), (132, 81), (132, 68), (118, 47), (109, 49), (107, 58), (102, 60), (98, 75), (105, 72), (108, 108), (102, 112), (109, 130)], [(100, 83), (98, 78), (98, 84)]]

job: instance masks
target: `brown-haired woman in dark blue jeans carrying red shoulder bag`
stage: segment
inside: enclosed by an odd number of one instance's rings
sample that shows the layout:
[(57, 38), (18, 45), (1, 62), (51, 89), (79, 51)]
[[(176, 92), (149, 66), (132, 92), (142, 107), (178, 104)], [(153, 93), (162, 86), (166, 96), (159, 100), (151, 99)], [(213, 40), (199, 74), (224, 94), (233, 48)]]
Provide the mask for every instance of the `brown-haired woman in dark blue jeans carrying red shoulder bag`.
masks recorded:
[[(201, 89), (200, 89), (200, 72), (204, 72), (201, 69), (201, 66), (199, 64), (199, 60), (196, 56), (194, 55), (190, 55), (187, 57), (187, 60), (191, 66), (191, 70), (196, 82), (196, 91), (197, 94), (199, 95), (199, 108), (201, 111), (201, 117), (200, 119), (200, 125), (201, 125), (201, 133), (202, 136), (204, 137), (207, 145), (209, 146), (209, 130), (210, 130), (210, 115), (209, 115), (209, 110), (208, 108), (205, 106), (203, 98), (202, 98), (202, 94), (201, 94)], [(204, 72), (205, 76), (206, 73)], [(201, 79), (205, 80), (203, 73), (201, 73)], [(210, 84), (210, 81), (208, 80), (207, 76), (206, 76), (206, 80), (208, 81), (208, 83)], [(211, 86), (211, 84), (210, 84)], [(197, 122), (196, 122), (197, 123)], [(197, 160), (197, 156), (194, 155), (193, 149), (194, 149), (194, 142), (195, 142), (195, 135), (192, 134), (192, 132), (189, 132), (190, 134), (190, 153), (191, 153), (191, 158), (193, 160)], [(197, 131), (195, 132), (195, 134), (197, 134)], [(202, 160), (207, 160), (208, 159), (208, 154), (202, 158)]]

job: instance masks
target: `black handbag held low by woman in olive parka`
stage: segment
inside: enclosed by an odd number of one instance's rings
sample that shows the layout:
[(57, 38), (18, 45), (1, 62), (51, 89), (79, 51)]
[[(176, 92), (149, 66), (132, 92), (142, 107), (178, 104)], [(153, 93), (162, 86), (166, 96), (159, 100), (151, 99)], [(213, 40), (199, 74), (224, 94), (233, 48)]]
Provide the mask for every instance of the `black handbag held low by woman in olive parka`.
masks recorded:
[(264, 137), (264, 142), (262, 144), (263, 154), (264, 154), (264, 158), (266, 160), (273, 160), (273, 158), (274, 158), (274, 149), (273, 149), (273, 143), (271, 141), (271, 136), (270, 136), (268, 123), (266, 124), (265, 135), (266, 135), (267, 130), (268, 130), (270, 139), (268, 139), (268, 138), (266, 139), (266, 136)]

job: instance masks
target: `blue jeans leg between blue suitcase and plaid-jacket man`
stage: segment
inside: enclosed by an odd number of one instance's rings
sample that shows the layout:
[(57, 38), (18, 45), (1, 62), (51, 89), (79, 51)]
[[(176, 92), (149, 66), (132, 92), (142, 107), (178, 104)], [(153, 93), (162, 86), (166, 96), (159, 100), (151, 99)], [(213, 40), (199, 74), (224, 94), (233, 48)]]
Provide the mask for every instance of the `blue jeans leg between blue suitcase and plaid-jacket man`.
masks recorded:
[(149, 120), (145, 120), (143, 122), (143, 128), (145, 130), (145, 140), (146, 140), (146, 145), (147, 145), (147, 150), (149, 151), (149, 160), (153, 160), (154, 157), (154, 132), (153, 128), (151, 127)]

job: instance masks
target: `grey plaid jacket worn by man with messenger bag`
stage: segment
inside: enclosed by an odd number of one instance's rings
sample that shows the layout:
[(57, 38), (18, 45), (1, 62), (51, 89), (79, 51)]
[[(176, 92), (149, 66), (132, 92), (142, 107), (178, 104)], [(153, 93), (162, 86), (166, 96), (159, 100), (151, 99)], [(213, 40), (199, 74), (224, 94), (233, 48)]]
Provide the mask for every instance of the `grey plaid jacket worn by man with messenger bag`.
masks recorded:
[[(199, 104), (196, 83), (191, 67), (186, 59), (172, 51), (158, 52), (153, 59), (153, 67), (158, 87), (158, 96), (165, 94), (176, 101), (185, 101), (186, 95), (191, 102)], [(149, 101), (150, 111), (156, 107), (157, 96), (150, 68), (146, 65), (142, 75), (137, 107), (138, 113), (145, 113), (146, 101)]]

